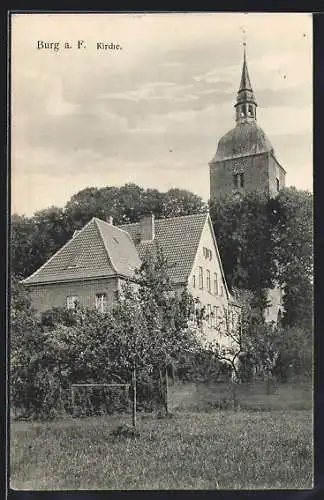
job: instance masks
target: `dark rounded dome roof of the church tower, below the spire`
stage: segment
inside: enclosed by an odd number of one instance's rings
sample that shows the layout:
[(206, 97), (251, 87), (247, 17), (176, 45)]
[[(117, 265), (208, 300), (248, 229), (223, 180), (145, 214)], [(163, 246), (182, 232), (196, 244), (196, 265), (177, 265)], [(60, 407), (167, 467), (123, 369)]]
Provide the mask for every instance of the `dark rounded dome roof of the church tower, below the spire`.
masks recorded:
[(255, 121), (238, 122), (219, 141), (213, 161), (273, 151), (272, 144)]

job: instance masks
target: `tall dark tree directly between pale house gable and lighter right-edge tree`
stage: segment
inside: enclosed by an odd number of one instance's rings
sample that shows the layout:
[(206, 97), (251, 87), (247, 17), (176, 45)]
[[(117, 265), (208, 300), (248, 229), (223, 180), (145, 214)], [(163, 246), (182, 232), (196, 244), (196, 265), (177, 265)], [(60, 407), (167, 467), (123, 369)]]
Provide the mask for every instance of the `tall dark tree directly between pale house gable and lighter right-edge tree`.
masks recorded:
[(227, 196), (210, 204), (210, 215), (230, 287), (255, 292), (264, 307), (264, 290), (276, 278), (271, 211), (255, 193)]

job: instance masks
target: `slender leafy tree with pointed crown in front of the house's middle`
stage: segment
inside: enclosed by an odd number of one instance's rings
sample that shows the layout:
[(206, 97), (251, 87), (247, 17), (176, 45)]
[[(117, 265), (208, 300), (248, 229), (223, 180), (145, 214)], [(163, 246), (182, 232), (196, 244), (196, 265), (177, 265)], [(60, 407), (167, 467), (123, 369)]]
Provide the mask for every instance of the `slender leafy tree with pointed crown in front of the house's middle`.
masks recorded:
[[(124, 291), (121, 298), (122, 302), (114, 310), (114, 318), (117, 318), (118, 324), (120, 318), (125, 319), (122, 331), (125, 333), (131, 329), (129, 332), (131, 340), (125, 344), (130, 349), (133, 374), (138, 367), (143, 369), (144, 366), (146, 368), (150, 366), (151, 372), (158, 369), (162, 380), (164, 371), (166, 413), (168, 413), (168, 365), (172, 365), (172, 360), (182, 350), (196, 345), (194, 333), (188, 325), (193, 299), (186, 291), (181, 294), (173, 291), (168, 270), (167, 260), (161, 248), (156, 245), (155, 251), (147, 252), (136, 274), (136, 292), (132, 288), (126, 288), (126, 294)], [(135, 314), (134, 304), (137, 304)], [(120, 335), (123, 333), (121, 332), (118, 337)]]

